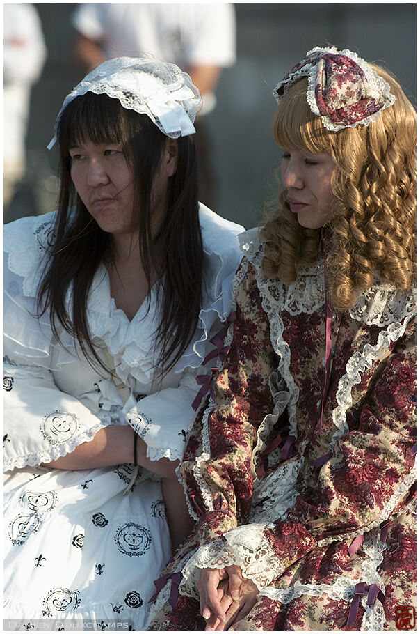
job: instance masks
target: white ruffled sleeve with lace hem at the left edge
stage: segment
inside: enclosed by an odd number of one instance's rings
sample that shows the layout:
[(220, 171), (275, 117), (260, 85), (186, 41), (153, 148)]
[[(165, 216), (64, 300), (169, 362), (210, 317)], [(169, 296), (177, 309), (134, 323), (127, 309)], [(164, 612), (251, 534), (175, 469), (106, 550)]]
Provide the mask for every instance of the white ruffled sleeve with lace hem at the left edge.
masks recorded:
[[(56, 342), (35, 295), (51, 215), (6, 226), (4, 247), (4, 470), (55, 460), (104, 426), (81, 401), (56, 386)], [(41, 236), (41, 237), (40, 237)], [(65, 355), (61, 357), (66, 362)], [(74, 362), (68, 355), (67, 362)]]

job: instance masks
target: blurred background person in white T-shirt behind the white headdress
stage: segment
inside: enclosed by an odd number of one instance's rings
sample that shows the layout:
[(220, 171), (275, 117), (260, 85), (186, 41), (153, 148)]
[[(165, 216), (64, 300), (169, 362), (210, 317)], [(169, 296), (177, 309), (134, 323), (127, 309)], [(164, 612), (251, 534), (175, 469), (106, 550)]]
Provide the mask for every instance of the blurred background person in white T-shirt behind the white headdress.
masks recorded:
[(199, 198), (215, 203), (215, 176), (205, 115), (216, 106), (223, 68), (236, 61), (232, 4), (81, 4), (72, 15), (74, 61), (85, 73), (106, 59), (154, 56), (188, 72), (203, 106), (196, 120)]

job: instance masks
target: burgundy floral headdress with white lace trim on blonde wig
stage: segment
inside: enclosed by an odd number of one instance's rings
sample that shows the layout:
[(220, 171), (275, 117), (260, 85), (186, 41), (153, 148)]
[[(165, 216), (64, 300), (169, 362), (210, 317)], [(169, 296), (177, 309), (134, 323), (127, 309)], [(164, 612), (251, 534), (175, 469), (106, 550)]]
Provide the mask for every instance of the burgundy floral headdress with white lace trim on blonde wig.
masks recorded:
[(394, 101), (391, 88), (357, 54), (335, 47), (316, 47), (277, 84), (273, 95), (280, 102), (287, 89), (301, 77), (308, 78), (307, 102), (321, 116), (327, 130), (369, 125)]

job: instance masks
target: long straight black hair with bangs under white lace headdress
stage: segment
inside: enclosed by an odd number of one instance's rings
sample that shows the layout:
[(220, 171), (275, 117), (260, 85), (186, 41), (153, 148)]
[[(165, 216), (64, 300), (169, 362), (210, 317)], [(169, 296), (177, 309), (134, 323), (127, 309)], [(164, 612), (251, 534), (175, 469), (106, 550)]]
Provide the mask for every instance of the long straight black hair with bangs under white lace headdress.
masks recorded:
[[(108, 95), (86, 93), (72, 100), (60, 116), (60, 194), (54, 226), (54, 244), (38, 288), (38, 311), (50, 311), (57, 339), (58, 322), (79, 342), (83, 354), (102, 367), (90, 337), (86, 308), (99, 263), (111, 254), (110, 235), (99, 228), (77, 194), (70, 175), (69, 149), (90, 140), (94, 144), (121, 144), (134, 169), (134, 219), (149, 293), (152, 270), (158, 267), (156, 240), (163, 245), (159, 265), (160, 323), (156, 328), (159, 357), (155, 376), (175, 366), (197, 325), (202, 300), (203, 247), (198, 216), (197, 158), (190, 137), (177, 139), (177, 169), (168, 184), (168, 206), (159, 235), (152, 235), (152, 184), (167, 137), (145, 114), (120, 105)], [(72, 288), (72, 314), (65, 297)], [(58, 320), (58, 322), (57, 322)]]

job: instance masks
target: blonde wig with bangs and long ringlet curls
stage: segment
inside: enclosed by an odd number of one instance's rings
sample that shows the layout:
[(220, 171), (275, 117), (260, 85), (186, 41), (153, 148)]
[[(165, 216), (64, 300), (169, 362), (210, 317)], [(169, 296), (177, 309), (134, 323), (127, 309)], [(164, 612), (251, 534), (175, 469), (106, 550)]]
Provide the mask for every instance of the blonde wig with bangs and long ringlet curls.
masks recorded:
[(416, 114), (401, 86), (378, 65), (370, 64), (391, 86), (393, 106), (369, 126), (339, 132), (323, 127), (307, 105), (307, 79), (293, 84), (277, 106), (273, 132), (277, 144), (311, 154), (329, 153), (334, 209), (327, 229), (298, 224), (280, 192), (280, 208), (262, 230), (267, 277), (290, 283), (298, 264), (318, 258), (321, 235), (325, 270), (334, 309), (349, 309), (373, 275), (396, 288), (410, 288), (415, 276)]

